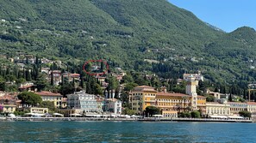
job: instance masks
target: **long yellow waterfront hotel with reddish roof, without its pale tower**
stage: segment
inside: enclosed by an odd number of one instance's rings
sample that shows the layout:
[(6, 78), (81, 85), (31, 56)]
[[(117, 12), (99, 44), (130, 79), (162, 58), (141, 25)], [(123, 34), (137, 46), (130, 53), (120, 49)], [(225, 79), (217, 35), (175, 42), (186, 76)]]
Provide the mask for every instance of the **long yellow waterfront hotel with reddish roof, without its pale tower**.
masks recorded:
[[(165, 88), (163, 88), (165, 89)], [(192, 106), (192, 98), (196, 98), (196, 108)], [(152, 86), (136, 86), (130, 92), (129, 101), (132, 110), (141, 114), (147, 106), (156, 106), (165, 117), (177, 117), (178, 112), (200, 110), (203, 115), (206, 111), (206, 98), (183, 93), (157, 92)]]

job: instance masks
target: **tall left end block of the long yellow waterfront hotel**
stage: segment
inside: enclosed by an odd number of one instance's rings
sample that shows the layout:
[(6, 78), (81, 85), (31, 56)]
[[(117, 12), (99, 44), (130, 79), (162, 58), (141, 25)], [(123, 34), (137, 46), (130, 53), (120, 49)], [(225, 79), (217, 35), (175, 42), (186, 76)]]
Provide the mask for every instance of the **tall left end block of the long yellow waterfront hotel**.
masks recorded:
[(146, 110), (147, 106), (153, 106), (156, 104), (156, 94), (157, 91), (152, 86), (134, 87), (134, 90), (130, 92), (129, 95), (132, 110), (135, 110), (137, 114), (141, 115), (143, 110)]

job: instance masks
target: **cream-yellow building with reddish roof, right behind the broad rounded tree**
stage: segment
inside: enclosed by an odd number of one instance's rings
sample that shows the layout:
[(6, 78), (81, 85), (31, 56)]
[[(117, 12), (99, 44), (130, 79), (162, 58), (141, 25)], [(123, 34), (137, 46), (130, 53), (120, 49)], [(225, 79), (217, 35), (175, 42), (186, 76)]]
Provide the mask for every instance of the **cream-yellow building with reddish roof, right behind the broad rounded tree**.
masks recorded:
[(35, 92), (36, 94), (41, 96), (42, 101), (51, 101), (54, 103), (54, 106), (56, 108), (61, 108), (63, 107), (62, 105), (62, 100), (63, 96), (59, 93), (54, 93), (54, 92)]

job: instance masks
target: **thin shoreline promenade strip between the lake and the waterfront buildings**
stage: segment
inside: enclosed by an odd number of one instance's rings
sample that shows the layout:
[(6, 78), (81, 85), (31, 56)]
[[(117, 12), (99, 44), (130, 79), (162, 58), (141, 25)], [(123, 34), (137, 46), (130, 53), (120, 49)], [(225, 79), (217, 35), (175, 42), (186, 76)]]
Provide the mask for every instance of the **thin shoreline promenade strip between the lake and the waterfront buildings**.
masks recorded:
[(102, 118), (102, 117), (0, 117), (0, 122), (86, 122), (86, 121), (120, 121), (120, 122), (253, 122), (252, 120), (212, 119), (212, 118)]

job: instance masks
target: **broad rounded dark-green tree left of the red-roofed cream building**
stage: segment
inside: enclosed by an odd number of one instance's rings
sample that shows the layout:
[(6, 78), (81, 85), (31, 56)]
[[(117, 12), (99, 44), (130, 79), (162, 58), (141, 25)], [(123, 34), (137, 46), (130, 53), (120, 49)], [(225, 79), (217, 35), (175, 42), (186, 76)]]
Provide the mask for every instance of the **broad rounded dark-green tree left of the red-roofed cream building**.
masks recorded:
[(37, 106), (38, 104), (41, 104), (42, 101), (41, 96), (34, 92), (21, 92), (18, 94), (18, 98), (22, 100), (22, 106), (24, 106), (24, 104), (28, 104), (28, 106)]

